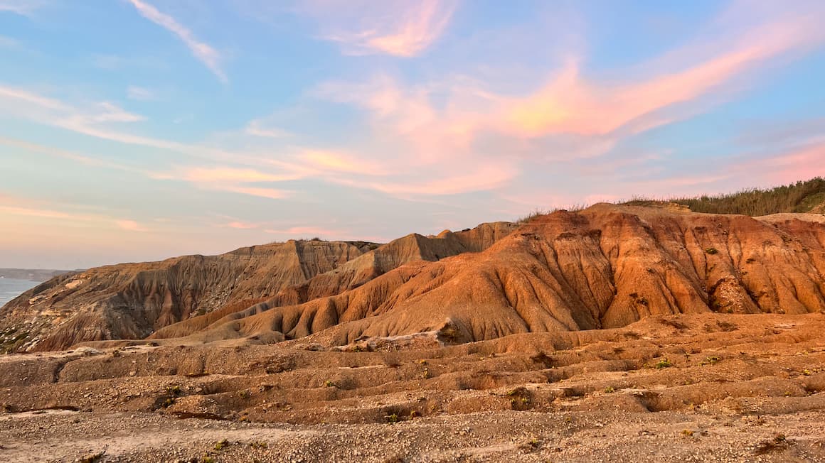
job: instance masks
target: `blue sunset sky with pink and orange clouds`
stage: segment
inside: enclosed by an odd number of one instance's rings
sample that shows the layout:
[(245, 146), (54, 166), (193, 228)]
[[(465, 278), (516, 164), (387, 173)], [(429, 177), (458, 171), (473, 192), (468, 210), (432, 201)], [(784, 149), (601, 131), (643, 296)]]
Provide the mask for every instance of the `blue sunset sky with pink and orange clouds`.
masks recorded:
[(825, 175), (825, 2), (0, 0), (0, 267)]

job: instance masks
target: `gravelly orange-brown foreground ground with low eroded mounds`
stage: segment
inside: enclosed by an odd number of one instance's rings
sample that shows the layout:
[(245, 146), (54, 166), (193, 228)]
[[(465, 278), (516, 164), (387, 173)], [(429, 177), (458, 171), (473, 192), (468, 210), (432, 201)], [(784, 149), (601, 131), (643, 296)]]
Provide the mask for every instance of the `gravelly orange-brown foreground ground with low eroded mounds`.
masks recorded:
[(705, 314), (9, 355), (0, 461), (825, 461), (823, 333), (823, 314)]

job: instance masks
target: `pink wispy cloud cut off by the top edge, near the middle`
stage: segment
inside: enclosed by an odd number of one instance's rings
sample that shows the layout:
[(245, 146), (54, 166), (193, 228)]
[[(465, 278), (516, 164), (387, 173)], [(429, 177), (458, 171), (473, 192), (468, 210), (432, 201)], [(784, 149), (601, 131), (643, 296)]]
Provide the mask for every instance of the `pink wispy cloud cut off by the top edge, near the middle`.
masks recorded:
[(346, 54), (412, 57), (438, 40), (456, 4), (456, 0), (316, 0), (299, 11), (313, 16), (321, 37), (342, 44)]

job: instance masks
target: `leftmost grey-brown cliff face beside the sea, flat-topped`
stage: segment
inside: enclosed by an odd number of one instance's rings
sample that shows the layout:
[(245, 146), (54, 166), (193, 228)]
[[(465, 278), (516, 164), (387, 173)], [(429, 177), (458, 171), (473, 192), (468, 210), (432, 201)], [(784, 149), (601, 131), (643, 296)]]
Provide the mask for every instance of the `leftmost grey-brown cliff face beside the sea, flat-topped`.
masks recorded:
[(272, 297), (375, 246), (287, 241), (61, 275), (2, 307), (0, 341), (6, 350), (52, 350), (81, 341), (141, 339), (190, 316)]

